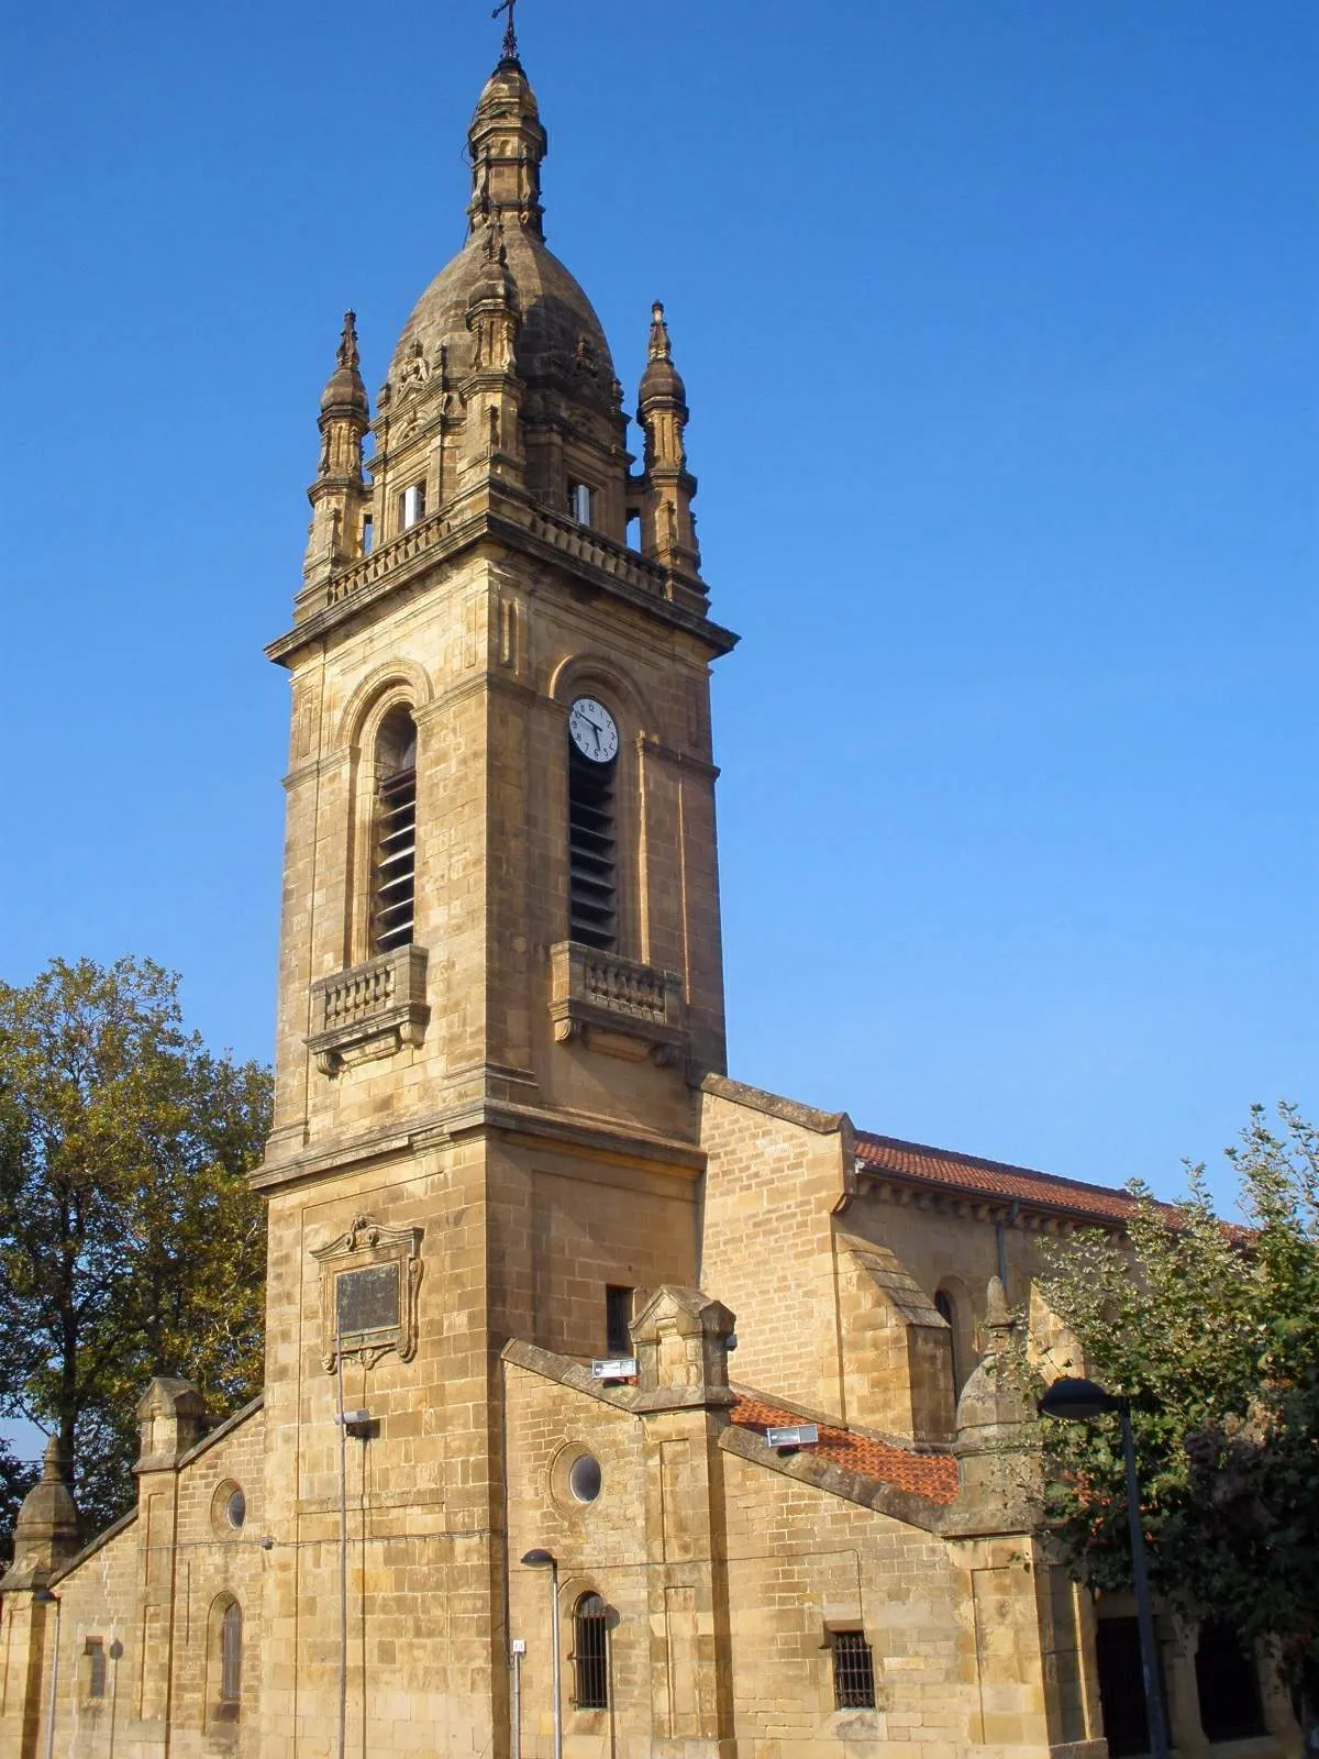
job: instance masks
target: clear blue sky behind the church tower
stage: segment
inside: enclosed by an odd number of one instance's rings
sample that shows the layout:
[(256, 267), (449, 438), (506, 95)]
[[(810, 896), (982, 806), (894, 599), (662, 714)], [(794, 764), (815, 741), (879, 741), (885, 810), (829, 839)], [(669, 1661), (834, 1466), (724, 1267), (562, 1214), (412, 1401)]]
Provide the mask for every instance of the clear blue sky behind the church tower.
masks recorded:
[[(550, 246), (663, 297), (714, 614), (732, 1073), (1178, 1186), (1319, 1110), (1319, 11), (524, 0)], [(482, 0), (7, 25), (0, 974), (269, 1055), (339, 315), (463, 241)]]

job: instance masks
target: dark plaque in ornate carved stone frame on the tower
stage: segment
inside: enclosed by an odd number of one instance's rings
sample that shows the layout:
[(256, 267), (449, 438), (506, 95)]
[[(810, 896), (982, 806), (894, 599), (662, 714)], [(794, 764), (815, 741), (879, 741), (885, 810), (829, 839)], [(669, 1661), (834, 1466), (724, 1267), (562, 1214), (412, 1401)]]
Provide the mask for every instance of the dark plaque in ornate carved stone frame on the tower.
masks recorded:
[(332, 1374), (345, 1356), (373, 1367), (387, 1349), (417, 1353), (422, 1230), (382, 1228), (355, 1215), (348, 1233), (313, 1251), (320, 1265), (320, 1361)]

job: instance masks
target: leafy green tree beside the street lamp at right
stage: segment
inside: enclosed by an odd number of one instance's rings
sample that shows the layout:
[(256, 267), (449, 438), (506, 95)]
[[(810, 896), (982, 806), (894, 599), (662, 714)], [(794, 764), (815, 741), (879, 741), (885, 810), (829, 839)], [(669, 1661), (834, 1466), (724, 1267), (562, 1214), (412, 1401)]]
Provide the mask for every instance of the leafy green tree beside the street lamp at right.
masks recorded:
[[(1264, 1639), (1319, 1708), (1319, 1135), (1256, 1106), (1228, 1150), (1249, 1226), (1224, 1223), (1203, 1166), (1177, 1205), (1140, 1200), (1129, 1249), (1083, 1235), (1048, 1252), (1041, 1293), (1085, 1372), (1133, 1400), (1155, 1590)], [(1078, 1578), (1131, 1585), (1117, 1420), (1043, 1423), (1045, 1518)]]

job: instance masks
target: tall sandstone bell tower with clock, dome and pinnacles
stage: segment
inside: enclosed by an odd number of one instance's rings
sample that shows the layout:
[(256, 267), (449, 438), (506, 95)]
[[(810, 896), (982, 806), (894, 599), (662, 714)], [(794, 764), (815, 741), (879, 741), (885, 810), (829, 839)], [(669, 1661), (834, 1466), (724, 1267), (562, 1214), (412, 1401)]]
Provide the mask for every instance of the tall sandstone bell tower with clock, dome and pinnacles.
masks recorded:
[[(626, 1347), (644, 1291), (696, 1281), (693, 1084), (725, 1057), (709, 667), (735, 637), (663, 308), (635, 471), (608, 343), (543, 243), (514, 44), (468, 142), (466, 245), (375, 415), (345, 318), (269, 647), (292, 682), (257, 1175), (271, 1754), (341, 1676), (350, 1726), (385, 1692), (436, 1752), (506, 1750), (499, 1351)], [(368, 1412), (343, 1460), (341, 1404)], [(348, 1638), (308, 1643), (341, 1546)]]

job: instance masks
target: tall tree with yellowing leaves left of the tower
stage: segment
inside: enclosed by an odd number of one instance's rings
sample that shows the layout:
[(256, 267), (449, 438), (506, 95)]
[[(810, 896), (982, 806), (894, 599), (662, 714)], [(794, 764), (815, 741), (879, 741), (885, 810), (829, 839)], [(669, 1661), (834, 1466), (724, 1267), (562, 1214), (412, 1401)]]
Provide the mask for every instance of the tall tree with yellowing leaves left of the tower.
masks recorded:
[(151, 1374), (262, 1374), (271, 1078), (206, 1050), (149, 960), (0, 985), (0, 1416), (60, 1434), (88, 1532), (132, 1500)]

